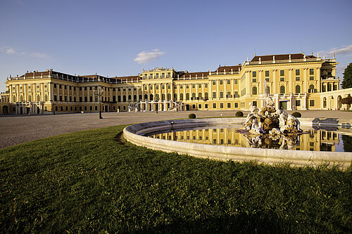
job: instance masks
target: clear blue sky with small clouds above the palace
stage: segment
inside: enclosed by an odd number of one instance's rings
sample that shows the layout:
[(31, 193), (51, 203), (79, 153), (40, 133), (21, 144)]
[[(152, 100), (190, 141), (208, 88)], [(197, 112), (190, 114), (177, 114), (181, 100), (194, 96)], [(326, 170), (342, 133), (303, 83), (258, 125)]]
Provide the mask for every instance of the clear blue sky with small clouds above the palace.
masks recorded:
[(352, 62), (352, 1), (0, 0), (0, 91), (9, 74), (52, 68), (125, 76), (189, 72), (275, 53)]

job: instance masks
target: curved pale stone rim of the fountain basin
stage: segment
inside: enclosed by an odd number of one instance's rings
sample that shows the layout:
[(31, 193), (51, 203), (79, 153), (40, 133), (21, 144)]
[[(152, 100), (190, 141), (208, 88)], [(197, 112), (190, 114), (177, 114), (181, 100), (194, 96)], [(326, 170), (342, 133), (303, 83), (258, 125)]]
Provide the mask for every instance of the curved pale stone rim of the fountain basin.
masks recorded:
[[(215, 160), (233, 160), (238, 162), (254, 160), (267, 164), (280, 164), (289, 162), (291, 165), (305, 166), (318, 165), (329, 162), (329, 165), (337, 164), (338, 167), (347, 168), (351, 165), (352, 152), (322, 152), (305, 150), (271, 150), (261, 148), (241, 148), (222, 145), (206, 145), (199, 143), (187, 143), (180, 141), (168, 141), (158, 138), (143, 136), (144, 134), (163, 129), (183, 129), (201, 126), (232, 126), (243, 124), (246, 118), (211, 118), (211, 119), (176, 119), (158, 122), (146, 122), (127, 126), (123, 134), (127, 141), (135, 145), (145, 146), (153, 150), (165, 152), (177, 152), (194, 157), (210, 158)], [(314, 127), (314, 119), (299, 119), (302, 126)], [(351, 119), (339, 121), (334, 126), (348, 126)], [(319, 126), (331, 127), (328, 122), (320, 122)]]

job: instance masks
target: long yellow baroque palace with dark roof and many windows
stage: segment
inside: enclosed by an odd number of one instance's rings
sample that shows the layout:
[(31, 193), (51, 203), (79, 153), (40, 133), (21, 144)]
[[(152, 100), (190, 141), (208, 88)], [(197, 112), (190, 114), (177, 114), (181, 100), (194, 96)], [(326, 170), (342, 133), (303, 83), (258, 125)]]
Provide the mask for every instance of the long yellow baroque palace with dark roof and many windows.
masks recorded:
[(341, 98), (352, 91), (341, 94), (336, 65), (335, 58), (294, 53), (255, 56), (208, 72), (163, 67), (130, 77), (27, 72), (7, 78), (0, 113), (249, 110), (250, 103), (262, 107), (265, 95), (284, 110), (339, 110)]

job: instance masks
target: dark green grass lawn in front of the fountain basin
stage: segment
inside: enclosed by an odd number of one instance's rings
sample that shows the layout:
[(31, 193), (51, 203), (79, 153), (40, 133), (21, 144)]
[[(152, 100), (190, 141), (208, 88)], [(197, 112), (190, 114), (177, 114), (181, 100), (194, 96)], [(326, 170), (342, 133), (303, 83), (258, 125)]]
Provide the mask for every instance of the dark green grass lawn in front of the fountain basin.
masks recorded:
[(1, 233), (348, 233), (351, 172), (217, 162), (116, 141), (124, 126), (0, 150)]

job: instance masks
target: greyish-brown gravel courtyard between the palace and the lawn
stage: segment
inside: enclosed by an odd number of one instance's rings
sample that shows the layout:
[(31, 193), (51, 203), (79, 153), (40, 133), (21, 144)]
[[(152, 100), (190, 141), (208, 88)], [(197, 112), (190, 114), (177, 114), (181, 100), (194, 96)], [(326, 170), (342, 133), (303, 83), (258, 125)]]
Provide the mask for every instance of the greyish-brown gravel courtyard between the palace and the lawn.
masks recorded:
[[(230, 117), (236, 111), (196, 111), (197, 117)], [(291, 113), (290, 111), (288, 111)], [(184, 112), (108, 112), (103, 119), (98, 113), (63, 114), (63, 115), (31, 115), (0, 117), (0, 148), (19, 143), (66, 134), (73, 131), (115, 126), (120, 124), (137, 124), (163, 119), (188, 118), (191, 111)], [(244, 112), (246, 116), (247, 112)], [(307, 110), (301, 111), (305, 118), (340, 118), (352, 119), (352, 112)]]

